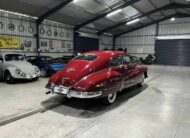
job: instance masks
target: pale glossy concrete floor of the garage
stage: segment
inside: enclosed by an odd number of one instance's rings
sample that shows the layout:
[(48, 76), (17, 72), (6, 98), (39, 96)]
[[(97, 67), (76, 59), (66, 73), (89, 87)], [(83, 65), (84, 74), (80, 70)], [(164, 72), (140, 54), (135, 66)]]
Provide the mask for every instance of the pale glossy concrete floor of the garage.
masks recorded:
[(1, 138), (189, 138), (190, 68), (149, 66), (143, 88), (121, 93), (111, 106), (100, 101), (45, 95), (47, 79), (0, 83), (0, 122), (48, 105), (60, 106), (0, 127)]

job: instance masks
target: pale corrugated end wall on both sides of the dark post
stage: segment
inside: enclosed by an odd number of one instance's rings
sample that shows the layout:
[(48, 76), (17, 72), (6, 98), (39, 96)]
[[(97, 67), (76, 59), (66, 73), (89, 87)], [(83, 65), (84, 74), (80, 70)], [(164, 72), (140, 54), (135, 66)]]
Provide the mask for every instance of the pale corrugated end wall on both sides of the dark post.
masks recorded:
[[(177, 18), (159, 23), (158, 36), (189, 35), (190, 18)], [(128, 52), (138, 57), (155, 53), (156, 25), (152, 25), (119, 37), (116, 48), (127, 48)], [(175, 38), (176, 39), (176, 38)]]

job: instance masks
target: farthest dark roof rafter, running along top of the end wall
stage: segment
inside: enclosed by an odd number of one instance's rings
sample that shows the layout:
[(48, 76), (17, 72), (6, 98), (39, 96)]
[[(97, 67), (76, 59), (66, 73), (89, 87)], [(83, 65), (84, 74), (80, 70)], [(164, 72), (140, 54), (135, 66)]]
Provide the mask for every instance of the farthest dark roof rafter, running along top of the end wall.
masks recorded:
[(144, 28), (144, 27), (147, 27), (147, 26), (150, 26), (150, 25), (153, 25), (153, 24), (162, 22), (162, 21), (167, 20), (167, 19), (170, 19), (170, 18), (172, 18), (172, 17), (190, 17), (190, 14), (176, 13), (176, 14), (167, 16), (167, 17), (165, 17), (165, 18), (162, 18), (162, 19), (160, 19), (160, 20), (156, 20), (156, 21), (154, 21), (154, 22), (148, 23), (148, 24), (146, 24), (146, 25), (143, 25), (143, 26), (140, 26), (140, 27), (131, 29), (131, 30), (129, 30), (129, 31), (124, 31), (124, 32), (122, 32), (122, 33), (116, 34), (116, 35), (114, 35), (114, 38), (117, 38), (117, 37), (119, 37), (119, 36), (121, 36), (121, 35), (124, 35), (124, 34), (130, 33), (130, 32), (133, 32), (133, 31), (142, 29), (142, 28)]

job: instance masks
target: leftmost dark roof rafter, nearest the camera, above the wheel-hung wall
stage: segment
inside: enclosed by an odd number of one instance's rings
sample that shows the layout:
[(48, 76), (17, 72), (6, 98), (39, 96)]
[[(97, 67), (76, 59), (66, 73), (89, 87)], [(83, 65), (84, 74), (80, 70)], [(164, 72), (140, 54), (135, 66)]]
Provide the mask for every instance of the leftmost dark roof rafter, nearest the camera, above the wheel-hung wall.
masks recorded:
[(58, 4), (57, 6), (55, 6), (54, 8), (50, 9), (49, 11), (45, 12), (44, 14), (42, 14), (37, 20), (37, 24), (40, 24), (43, 22), (44, 19), (46, 19), (47, 17), (49, 17), (50, 15), (56, 13), (57, 11), (59, 11), (60, 9), (62, 9), (63, 7), (65, 7), (66, 5), (68, 5), (69, 3), (71, 3), (73, 0), (66, 0), (61, 2), (60, 4)]

